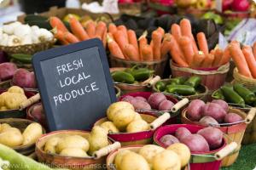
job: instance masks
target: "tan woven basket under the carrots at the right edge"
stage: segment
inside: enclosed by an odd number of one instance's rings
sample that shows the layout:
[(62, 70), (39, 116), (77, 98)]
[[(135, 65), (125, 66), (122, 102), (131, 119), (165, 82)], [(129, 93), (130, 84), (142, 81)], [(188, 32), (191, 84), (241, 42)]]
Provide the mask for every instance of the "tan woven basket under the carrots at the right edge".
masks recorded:
[(241, 74), (239, 74), (237, 68), (234, 69), (233, 72), (234, 81), (233, 83), (241, 83), (248, 89), (252, 89), (256, 87), (256, 79), (245, 77)]

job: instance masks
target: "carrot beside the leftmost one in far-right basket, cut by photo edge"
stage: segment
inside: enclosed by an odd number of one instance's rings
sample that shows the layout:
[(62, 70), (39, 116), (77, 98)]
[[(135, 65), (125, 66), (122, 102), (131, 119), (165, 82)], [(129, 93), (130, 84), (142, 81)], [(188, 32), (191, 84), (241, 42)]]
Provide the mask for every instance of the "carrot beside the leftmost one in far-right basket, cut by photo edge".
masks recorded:
[(256, 61), (254, 59), (253, 49), (247, 45), (243, 46), (242, 53), (244, 54), (245, 59), (247, 60), (247, 65), (251, 71), (253, 78), (256, 78)]

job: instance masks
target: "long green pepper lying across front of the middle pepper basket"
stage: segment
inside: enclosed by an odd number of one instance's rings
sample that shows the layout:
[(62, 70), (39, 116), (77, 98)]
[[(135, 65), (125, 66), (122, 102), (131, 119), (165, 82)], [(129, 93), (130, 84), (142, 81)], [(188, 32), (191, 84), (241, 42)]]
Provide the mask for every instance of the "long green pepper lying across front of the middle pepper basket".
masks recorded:
[(195, 94), (195, 88), (188, 85), (167, 85), (166, 92), (169, 94), (192, 95)]

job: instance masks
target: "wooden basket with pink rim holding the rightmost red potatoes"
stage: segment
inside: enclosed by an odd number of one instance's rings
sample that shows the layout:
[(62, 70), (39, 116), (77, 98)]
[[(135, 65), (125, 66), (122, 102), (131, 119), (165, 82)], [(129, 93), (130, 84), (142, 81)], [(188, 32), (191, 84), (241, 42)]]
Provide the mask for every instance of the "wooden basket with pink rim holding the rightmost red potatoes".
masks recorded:
[[(247, 118), (247, 114), (243, 111), (230, 108), (229, 112), (238, 114), (244, 120), (246, 120), (246, 118)], [(185, 124), (200, 125), (199, 122), (192, 122), (189, 120), (189, 118), (187, 117), (187, 109), (183, 110), (182, 122)], [(245, 130), (247, 128), (247, 123), (240, 122), (240, 123), (233, 124), (231, 126), (223, 126), (223, 127), (218, 127), (218, 128), (223, 133), (227, 134), (226, 139), (227, 139), (228, 144), (230, 144), (231, 142), (236, 142), (236, 144), (238, 144), (238, 146), (241, 146), (241, 140), (242, 140)], [(229, 167), (230, 165), (232, 165), (236, 161), (236, 159), (239, 155), (239, 150), (240, 150), (240, 148), (238, 147), (236, 149), (235, 153), (233, 153), (230, 156), (225, 157), (224, 160), (222, 161), (222, 166)]]

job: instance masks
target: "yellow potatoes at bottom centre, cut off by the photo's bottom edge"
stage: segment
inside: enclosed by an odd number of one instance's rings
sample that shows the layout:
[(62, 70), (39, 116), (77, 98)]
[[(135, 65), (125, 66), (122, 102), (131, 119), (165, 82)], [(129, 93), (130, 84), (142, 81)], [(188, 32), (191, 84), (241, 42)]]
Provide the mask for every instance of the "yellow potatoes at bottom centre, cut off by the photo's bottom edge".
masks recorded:
[(189, 159), (190, 151), (185, 144), (172, 144), (167, 149), (147, 144), (138, 152), (119, 150), (114, 165), (117, 170), (179, 170), (189, 163)]

